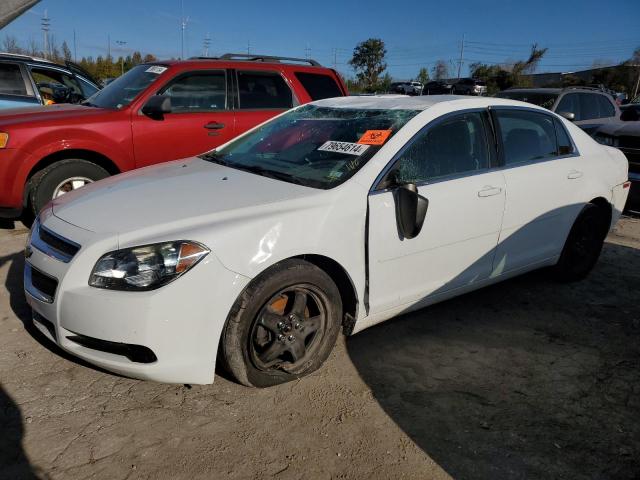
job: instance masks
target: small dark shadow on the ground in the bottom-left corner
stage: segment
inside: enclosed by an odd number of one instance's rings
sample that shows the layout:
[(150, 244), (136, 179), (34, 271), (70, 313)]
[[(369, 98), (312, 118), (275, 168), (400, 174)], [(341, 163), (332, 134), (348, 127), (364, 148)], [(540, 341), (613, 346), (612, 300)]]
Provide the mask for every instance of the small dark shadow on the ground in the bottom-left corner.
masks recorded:
[(37, 479), (23, 448), (24, 422), (20, 408), (0, 385), (0, 478)]

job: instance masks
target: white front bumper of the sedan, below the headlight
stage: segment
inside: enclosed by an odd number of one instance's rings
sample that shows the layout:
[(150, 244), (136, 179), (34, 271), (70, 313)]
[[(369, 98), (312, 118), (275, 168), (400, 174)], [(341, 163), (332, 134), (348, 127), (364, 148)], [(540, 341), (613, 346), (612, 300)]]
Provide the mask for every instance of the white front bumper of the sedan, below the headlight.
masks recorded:
[[(50, 231), (79, 244), (68, 263), (34, 246), (25, 267), (25, 295), (35, 326), (63, 350), (122, 375), (167, 383), (212, 383), (227, 314), (249, 279), (213, 254), (183, 277), (149, 292), (93, 288), (88, 279), (113, 239), (48, 215)], [(32, 232), (35, 236), (36, 232)], [(33, 273), (57, 286), (33, 278)], [(38, 288), (40, 287), (40, 288)], [(47, 290), (43, 293), (40, 290)]]

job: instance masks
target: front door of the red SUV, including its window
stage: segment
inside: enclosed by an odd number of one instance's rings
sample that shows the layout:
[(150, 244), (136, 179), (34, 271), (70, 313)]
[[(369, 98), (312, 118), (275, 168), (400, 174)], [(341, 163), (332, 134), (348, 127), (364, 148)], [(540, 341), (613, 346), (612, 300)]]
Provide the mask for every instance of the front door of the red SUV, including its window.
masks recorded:
[(233, 138), (235, 115), (224, 69), (182, 73), (157, 92), (171, 97), (171, 113), (153, 119), (132, 113), (136, 166), (207, 152)]

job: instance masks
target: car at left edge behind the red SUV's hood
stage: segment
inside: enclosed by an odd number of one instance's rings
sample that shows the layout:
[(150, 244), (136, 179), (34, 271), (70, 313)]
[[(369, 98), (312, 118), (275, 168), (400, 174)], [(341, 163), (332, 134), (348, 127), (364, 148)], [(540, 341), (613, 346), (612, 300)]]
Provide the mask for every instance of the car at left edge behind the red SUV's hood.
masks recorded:
[(80, 103), (100, 87), (79, 66), (0, 53), (0, 111), (6, 108)]

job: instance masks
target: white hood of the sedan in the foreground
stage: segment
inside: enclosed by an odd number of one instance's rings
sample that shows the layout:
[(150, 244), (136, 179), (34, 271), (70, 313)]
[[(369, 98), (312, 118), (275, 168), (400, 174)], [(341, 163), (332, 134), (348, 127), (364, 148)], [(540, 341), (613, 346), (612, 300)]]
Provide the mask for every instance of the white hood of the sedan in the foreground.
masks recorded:
[(96, 233), (190, 228), (223, 212), (264, 207), (318, 190), (199, 158), (134, 170), (67, 193), (53, 214)]

